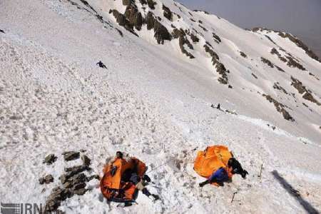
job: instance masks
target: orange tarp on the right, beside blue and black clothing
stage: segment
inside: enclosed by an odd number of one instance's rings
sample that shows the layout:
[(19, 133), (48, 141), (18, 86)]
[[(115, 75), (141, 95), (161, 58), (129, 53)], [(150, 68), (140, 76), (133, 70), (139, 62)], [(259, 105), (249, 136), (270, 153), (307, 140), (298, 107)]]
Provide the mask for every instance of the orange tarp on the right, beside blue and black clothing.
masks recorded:
[(194, 170), (198, 175), (209, 178), (215, 170), (226, 167), (232, 154), (226, 146), (209, 146), (205, 151), (198, 151), (195, 158)]

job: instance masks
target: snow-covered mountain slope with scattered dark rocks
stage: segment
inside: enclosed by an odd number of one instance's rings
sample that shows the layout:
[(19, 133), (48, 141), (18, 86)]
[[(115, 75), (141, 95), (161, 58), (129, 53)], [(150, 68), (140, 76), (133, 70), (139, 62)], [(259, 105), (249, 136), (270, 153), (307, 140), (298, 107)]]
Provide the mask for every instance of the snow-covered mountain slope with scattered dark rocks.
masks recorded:
[[(99, 175), (118, 150), (145, 161), (161, 200), (117, 208), (91, 180), (66, 213), (321, 210), (321, 63), (292, 35), (170, 0), (0, 1), (0, 29), (1, 202), (45, 203), (61, 153), (84, 149)], [(247, 180), (198, 187), (196, 151), (213, 144)], [(44, 165), (49, 153), (58, 161)], [(47, 173), (54, 183), (40, 185)]]

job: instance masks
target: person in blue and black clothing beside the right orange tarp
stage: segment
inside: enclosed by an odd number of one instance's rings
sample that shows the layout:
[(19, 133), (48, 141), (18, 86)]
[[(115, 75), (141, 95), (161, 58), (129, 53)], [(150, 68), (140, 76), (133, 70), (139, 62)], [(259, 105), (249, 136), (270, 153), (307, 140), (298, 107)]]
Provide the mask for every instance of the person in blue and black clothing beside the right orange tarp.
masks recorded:
[(247, 170), (243, 170), (242, 166), (240, 165), (240, 162), (236, 160), (235, 158), (230, 158), (228, 160), (228, 166), (227, 167), (221, 167), (218, 170), (215, 170), (212, 175), (210, 175), (210, 178), (208, 180), (203, 181), (202, 183), (199, 183), (200, 187), (203, 187), (204, 185), (208, 183), (215, 183), (217, 185), (224, 185), (224, 182), (229, 181), (234, 174), (240, 174), (242, 178), (246, 178), (246, 175), (248, 175)]

